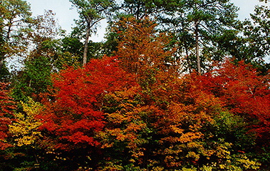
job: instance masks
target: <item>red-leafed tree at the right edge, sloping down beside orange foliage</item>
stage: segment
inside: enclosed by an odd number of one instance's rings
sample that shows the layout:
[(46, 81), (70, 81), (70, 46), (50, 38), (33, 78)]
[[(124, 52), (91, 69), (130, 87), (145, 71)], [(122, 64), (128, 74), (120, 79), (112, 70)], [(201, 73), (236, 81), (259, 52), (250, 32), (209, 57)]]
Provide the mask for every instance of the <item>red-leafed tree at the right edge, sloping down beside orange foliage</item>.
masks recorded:
[(250, 122), (259, 140), (268, 143), (270, 133), (269, 75), (263, 76), (251, 65), (226, 61), (204, 76), (192, 76), (195, 89), (213, 94), (224, 108)]

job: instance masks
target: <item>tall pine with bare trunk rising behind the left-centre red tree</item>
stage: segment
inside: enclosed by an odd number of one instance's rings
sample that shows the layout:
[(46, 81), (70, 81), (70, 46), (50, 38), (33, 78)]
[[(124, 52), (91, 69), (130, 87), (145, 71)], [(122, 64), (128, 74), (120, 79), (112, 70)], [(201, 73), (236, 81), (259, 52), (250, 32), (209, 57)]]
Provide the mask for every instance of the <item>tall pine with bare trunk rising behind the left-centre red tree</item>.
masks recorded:
[(81, 33), (85, 33), (83, 66), (87, 61), (88, 41), (90, 34), (95, 32), (95, 26), (105, 19), (109, 9), (113, 6), (113, 0), (70, 0), (76, 7), (80, 19), (77, 21)]

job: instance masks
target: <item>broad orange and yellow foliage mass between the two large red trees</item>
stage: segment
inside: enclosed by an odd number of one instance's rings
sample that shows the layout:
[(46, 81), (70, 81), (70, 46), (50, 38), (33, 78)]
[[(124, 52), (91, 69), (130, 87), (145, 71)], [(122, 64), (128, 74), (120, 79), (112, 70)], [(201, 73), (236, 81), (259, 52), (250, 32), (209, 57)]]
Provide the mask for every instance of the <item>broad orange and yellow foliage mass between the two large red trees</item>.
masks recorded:
[(254, 136), (244, 118), (224, 108), (223, 99), (196, 79), (193, 84), (189, 78), (168, 78), (157, 77), (152, 96), (140, 87), (105, 96), (100, 170), (258, 169), (245, 154)]

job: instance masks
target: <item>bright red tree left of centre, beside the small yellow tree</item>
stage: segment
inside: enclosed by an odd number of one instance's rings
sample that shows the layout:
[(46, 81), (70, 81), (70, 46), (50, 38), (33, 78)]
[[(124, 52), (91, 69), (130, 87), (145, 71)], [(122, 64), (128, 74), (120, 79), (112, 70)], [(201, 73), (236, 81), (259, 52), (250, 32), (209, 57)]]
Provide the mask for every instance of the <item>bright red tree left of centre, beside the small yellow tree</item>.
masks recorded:
[(53, 76), (55, 100), (48, 102), (40, 117), (41, 128), (57, 137), (52, 139), (55, 147), (68, 150), (99, 145), (94, 135), (105, 124), (103, 98), (135, 84), (118, 63), (116, 58), (93, 59), (84, 68), (68, 68)]

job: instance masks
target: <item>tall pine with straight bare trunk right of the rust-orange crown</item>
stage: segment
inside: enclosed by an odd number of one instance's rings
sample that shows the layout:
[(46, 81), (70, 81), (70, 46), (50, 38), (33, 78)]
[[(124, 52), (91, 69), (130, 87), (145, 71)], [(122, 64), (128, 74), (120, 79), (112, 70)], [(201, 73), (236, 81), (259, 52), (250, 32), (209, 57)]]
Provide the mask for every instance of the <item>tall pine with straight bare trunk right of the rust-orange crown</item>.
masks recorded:
[[(180, 41), (180, 48), (183, 48), (180, 52), (185, 54), (187, 66), (196, 66), (201, 74), (202, 68), (205, 68), (202, 65), (206, 61), (220, 61), (226, 53), (218, 48), (220, 45), (217, 44), (217, 39), (224, 33), (235, 33), (236, 12), (237, 8), (228, 0), (185, 1), (177, 9), (168, 11), (169, 15), (162, 20)], [(231, 39), (232, 37), (228, 37), (223, 41)], [(182, 54), (180, 53), (180, 56)], [(196, 65), (192, 61), (196, 61)]]

